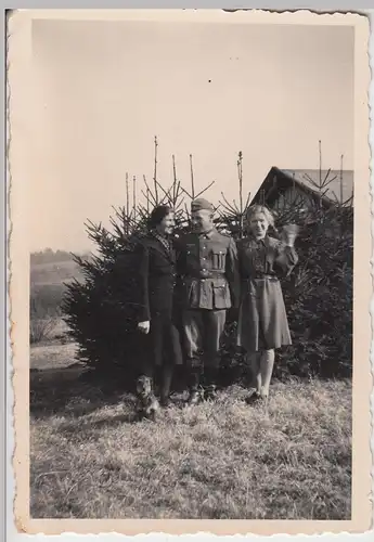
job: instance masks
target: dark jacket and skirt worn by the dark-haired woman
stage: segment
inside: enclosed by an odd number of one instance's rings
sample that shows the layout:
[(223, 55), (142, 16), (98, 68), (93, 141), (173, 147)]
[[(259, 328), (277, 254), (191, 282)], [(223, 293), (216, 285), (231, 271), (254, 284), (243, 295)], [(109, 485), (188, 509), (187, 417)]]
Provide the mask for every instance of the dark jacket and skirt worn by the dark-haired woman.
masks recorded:
[(182, 363), (179, 333), (173, 322), (176, 254), (152, 234), (137, 248), (139, 255), (138, 322), (150, 321), (149, 359), (162, 365), (166, 359)]

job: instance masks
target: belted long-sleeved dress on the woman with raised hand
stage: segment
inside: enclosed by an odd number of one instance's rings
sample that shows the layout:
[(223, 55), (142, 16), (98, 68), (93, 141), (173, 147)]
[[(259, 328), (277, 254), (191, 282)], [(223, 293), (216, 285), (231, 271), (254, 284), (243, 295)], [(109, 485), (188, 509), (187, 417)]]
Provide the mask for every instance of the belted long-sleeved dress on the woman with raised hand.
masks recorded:
[(248, 352), (291, 345), (291, 334), (280, 278), (298, 261), (295, 248), (266, 236), (237, 242), (241, 304), (237, 345)]

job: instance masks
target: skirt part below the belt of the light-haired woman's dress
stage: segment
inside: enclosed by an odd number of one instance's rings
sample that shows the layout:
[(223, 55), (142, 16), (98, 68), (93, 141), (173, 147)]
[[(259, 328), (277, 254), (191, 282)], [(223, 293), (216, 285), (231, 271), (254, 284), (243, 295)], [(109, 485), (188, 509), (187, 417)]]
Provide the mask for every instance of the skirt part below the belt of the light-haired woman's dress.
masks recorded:
[(254, 279), (242, 284), (236, 344), (248, 352), (292, 344), (281, 283), (276, 278)]

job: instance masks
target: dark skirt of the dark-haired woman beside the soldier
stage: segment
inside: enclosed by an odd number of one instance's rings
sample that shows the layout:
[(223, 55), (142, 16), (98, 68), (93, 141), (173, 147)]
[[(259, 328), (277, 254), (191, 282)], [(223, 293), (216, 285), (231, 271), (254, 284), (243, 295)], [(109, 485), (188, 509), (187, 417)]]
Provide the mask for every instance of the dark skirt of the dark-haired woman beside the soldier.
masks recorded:
[(151, 315), (146, 339), (147, 359), (152, 365), (183, 363), (179, 332), (169, 310)]

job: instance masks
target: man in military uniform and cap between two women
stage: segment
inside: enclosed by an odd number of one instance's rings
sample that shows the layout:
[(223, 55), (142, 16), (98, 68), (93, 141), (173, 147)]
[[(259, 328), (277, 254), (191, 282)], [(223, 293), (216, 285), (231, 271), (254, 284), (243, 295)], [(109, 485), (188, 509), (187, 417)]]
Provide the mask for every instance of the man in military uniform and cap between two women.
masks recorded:
[[(216, 230), (212, 217), (214, 207), (209, 202), (193, 201), (192, 232), (180, 238), (178, 246), (177, 272), (183, 291), (182, 333), (190, 404), (215, 397), (227, 310), (238, 305), (235, 243)], [(204, 397), (199, 391), (203, 373)]]

